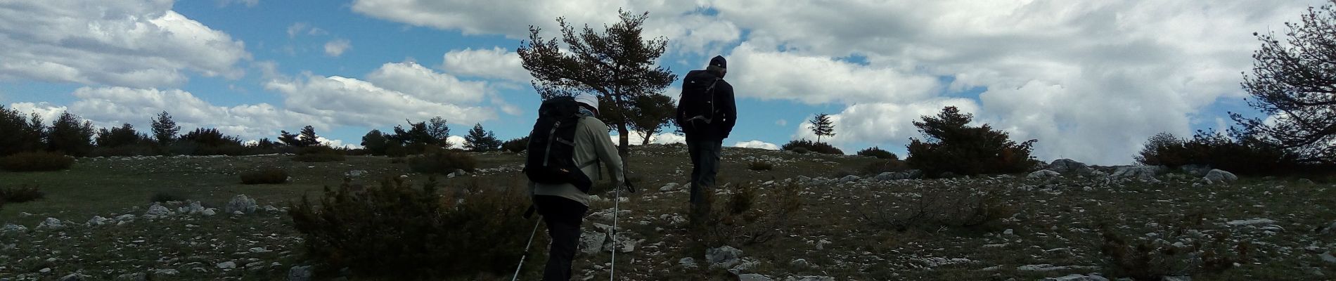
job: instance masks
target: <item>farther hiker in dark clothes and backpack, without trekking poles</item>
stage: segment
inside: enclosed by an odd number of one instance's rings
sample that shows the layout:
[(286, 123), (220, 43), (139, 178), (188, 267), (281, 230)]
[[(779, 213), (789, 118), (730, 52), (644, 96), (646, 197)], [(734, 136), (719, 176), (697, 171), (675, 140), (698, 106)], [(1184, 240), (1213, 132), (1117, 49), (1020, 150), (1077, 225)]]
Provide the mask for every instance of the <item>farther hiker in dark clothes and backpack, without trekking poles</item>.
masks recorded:
[[(691, 216), (693, 221), (709, 213), (709, 194), (713, 194), (715, 174), (724, 139), (737, 123), (733, 87), (724, 81), (728, 61), (723, 56), (709, 59), (705, 69), (687, 72), (681, 81), (675, 120), (687, 135), (691, 156)], [(708, 194), (707, 194), (708, 192)]]

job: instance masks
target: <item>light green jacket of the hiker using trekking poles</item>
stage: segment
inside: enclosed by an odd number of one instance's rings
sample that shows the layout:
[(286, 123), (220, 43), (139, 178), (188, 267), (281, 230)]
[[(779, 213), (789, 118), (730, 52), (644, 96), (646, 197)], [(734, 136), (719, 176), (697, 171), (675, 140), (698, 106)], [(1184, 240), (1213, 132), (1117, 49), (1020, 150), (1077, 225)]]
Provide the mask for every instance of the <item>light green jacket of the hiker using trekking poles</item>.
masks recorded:
[[(608, 125), (596, 117), (585, 116), (580, 119), (580, 124), (576, 124), (574, 158), (576, 165), (581, 166), (580, 172), (584, 172), (595, 182), (603, 180), (604, 173), (599, 170), (600, 166), (607, 166), (611, 170), (613, 182), (620, 184), (625, 181), (621, 169), (621, 157), (617, 156), (617, 145), (608, 137)], [(536, 196), (560, 196), (587, 206), (589, 205), (589, 194), (580, 192), (572, 184), (538, 184), (530, 181), (529, 188)]]

